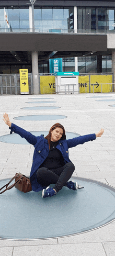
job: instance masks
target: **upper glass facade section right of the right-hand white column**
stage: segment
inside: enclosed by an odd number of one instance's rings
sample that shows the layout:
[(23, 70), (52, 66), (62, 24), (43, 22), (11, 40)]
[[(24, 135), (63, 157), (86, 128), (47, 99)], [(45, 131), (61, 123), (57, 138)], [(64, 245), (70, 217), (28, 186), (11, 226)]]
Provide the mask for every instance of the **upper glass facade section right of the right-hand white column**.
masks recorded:
[(77, 8), (78, 30), (114, 30), (113, 23), (115, 23), (115, 8)]

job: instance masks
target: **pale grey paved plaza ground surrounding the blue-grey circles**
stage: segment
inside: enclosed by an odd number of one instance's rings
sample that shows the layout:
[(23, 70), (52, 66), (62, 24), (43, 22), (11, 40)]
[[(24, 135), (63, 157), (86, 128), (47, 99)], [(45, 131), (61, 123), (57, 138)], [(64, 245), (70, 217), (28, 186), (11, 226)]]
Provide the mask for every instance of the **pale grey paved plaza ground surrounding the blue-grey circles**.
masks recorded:
[[(34, 100), (34, 98), (36, 99)], [(40, 102), (42, 99), (45, 102), (49, 101), (49, 103), (29, 103), (33, 100)], [(102, 99), (106, 99), (106, 101), (101, 101)], [(107, 99), (114, 99), (114, 101), (110, 102)], [(50, 103), (50, 101), (54, 101), (54, 103)], [(9, 115), (12, 123), (28, 131), (49, 131), (55, 123), (61, 123), (65, 131), (75, 132), (79, 135), (96, 133), (101, 128), (105, 129), (101, 138), (71, 148), (69, 150), (70, 159), (75, 165), (73, 176), (96, 180), (115, 187), (115, 93), (4, 95), (0, 96), (0, 102), (0, 136), (10, 133), (8, 126), (3, 121), (3, 113), (5, 112)], [(22, 109), (32, 106), (60, 108)], [(40, 121), (14, 119), (18, 116), (27, 115), (63, 115), (66, 118)], [(0, 141), (0, 179), (11, 178), (16, 172), (29, 175), (33, 150), (34, 147), (30, 144), (13, 144)], [(5, 194), (8, 195), (8, 191)], [(17, 232), (18, 225), (23, 226), (23, 221), (20, 224), (17, 220)], [(115, 220), (108, 225), (78, 235), (28, 240), (1, 238), (0, 244), (1, 256), (114, 256)]]

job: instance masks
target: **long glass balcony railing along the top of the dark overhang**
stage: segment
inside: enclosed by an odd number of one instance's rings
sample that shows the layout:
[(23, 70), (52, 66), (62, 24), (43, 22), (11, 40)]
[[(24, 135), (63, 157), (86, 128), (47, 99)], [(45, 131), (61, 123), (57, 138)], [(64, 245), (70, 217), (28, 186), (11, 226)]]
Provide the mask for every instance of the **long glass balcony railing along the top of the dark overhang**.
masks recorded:
[(111, 34), (115, 29), (92, 30), (92, 29), (44, 29), (44, 28), (0, 28), (0, 33), (49, 33), (49, 34)]

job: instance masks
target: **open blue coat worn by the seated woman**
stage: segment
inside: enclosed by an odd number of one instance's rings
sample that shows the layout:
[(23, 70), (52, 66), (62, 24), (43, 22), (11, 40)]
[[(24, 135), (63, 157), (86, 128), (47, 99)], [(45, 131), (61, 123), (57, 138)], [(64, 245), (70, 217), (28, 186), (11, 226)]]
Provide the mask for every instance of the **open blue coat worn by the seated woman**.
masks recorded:
[[(43, 188), (46, 188), (46, 186), (41, 186), (37, 182), (37, 170), (39, 169), (39, 166), (44, 162), (44, 160), (48, 157), (49, 154), (49, 144), (48, 140), (44, 139), (43, 135), (41, 136), (35, 136), (32, 135), (30, 132), (20, 128), (19, 126), (15, 124), (11, 124), (11, 130), (10, 133), (13, 131), (17, 133), (18, 135), (21, 136), (21, 138), (25, 138), (30, 144), (32, 144), (35, 147), (35, 151), (33, 153), (33, 163), (31, 167), (31, 173), (30, 173), (30, 182), (32, 185), (32, 190), (33, 191), (41, 191)], [(63, 155), (64, 162), (65, 164), (67, 162), (71, 162), (71, 160), (68, 157), (68, 148), (73, 148), (76, 147), (78, 144), (83, 144), (84, 142), (87, 141), (93, 141), (96, 139), (95, 133), (90, 134), (90, 135), (84, 135), (84, 136), (79, 136), (73, 139), (60, 139), (59, 143), (57, 144), (56, 148), (59, 149)]]

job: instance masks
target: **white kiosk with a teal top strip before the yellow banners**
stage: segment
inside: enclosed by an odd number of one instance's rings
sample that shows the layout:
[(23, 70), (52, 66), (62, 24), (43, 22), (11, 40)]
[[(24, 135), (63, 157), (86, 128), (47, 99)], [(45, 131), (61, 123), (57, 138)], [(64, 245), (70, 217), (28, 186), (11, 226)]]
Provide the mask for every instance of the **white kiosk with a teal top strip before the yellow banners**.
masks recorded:
[(56, 94), (79, 93), (79, 72), (56, 72), (54, 75)]

